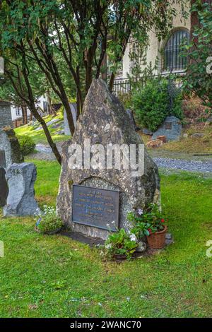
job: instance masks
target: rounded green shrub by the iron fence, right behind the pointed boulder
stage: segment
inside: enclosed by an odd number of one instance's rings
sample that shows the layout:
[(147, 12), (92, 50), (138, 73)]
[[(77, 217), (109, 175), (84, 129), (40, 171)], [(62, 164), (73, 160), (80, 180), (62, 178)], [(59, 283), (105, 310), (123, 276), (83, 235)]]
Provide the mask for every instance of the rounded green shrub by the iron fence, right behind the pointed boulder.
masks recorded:
[(182, 119), (182, 94), (178, 91), (176, 88), (172, 91), (173, 107), (170, 109), (167, 79), (153, 78), (147, 81), (144, 88), (137, 86), (132, 93), (132, 107), (139, 126), (155, 131), (168, 115)]

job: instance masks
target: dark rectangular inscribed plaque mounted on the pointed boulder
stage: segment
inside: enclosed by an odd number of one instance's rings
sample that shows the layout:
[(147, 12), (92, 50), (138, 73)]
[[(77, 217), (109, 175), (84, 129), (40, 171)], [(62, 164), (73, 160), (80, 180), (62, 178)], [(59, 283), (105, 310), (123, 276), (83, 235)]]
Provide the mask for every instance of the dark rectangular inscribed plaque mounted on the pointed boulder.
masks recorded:
[(102, 230), (119, 227), (119, 191), (73, 185), (72, 221)]

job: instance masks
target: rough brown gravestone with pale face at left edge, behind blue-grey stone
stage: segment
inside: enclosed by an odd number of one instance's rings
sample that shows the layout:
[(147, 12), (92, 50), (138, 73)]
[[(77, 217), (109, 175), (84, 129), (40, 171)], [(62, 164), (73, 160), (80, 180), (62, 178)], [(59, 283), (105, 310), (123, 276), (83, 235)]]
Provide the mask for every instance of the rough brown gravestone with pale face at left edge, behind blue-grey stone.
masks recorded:
[(0, 161), (4, 155), (4, 165), (2, 165), (2, 167), (6, 168), (12, 165), (13, 162), (23, 162), (23, 155), (20, 152), (18, 138), (11, 127), (0, 129), (0, 151)]

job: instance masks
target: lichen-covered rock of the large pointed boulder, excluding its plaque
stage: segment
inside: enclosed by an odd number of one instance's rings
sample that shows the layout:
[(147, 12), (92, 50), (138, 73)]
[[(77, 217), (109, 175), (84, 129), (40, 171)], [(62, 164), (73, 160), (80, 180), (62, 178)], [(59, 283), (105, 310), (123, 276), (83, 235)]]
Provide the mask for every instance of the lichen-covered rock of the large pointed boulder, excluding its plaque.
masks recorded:
[[(74, 169), (70, 166), (73, 157), (71, 146), (79, 144), (84, 148), (85, 140), (90, 140), (90, 146), (101, 144), (134, 144), (143, 146), (141, 137), (134, 130), (129, 115), (112, 95), (102, 80), (93, 80), (86, 96), (83, 113), (76, 122), (76, 130), (71, 141), (62, 146), (62, 167), (59, 180), (59, 194), (57, 196), (57, 211), (66, 225), (77, 232), (91, 237), (106, 239), (107, 230), (98, 227), (80, 225), (72, 221), (73, 184), (91, 186), (98, 189), (119, 191), (119, 227), (129, 230), (126, 215), (129, 211), (144, 208), (148, 203), (160, 203), (160, 179), (158, 167), (146, 150), (143, 150), (144, 170), (139, 176), (132, 176), (132, 169), (107, 169), (105, 165)], [(105, 149), (106, 150), (106, 149)], [(136, 150), (138, 153), (138, 150)], [(106, 154), (106, 153), (105, 153)], [(95, 155), (95, 152), (91, 155)]]

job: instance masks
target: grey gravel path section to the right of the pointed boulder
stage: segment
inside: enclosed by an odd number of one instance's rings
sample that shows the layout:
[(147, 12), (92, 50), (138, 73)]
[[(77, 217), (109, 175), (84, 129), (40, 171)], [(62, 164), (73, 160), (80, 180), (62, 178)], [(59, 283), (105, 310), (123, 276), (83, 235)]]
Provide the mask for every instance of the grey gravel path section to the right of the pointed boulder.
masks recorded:
[(212, 172), (212, 160), (211, 162), (170, 158), (153, 158), (153, 160), (158, 165), (158, 167), (165, 167), (172, 170)]

